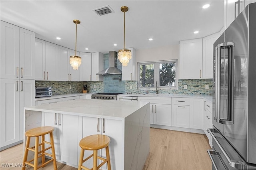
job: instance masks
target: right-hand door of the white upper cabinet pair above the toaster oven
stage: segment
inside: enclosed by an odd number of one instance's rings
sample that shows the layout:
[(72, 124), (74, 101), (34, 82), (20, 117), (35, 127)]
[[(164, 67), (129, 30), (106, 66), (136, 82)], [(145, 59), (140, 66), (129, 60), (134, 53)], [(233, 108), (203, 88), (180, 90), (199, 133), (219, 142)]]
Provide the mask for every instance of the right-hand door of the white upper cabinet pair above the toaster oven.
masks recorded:
[(58, 80), (58, 45), (46, 42), (46, 73), (47, 81)]

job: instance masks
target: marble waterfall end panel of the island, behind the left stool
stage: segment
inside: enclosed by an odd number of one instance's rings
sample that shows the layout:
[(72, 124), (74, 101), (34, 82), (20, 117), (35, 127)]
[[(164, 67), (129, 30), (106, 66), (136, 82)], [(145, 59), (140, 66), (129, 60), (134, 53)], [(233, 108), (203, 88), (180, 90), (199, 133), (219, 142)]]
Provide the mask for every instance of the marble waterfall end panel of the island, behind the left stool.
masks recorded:
[[(41, 127), (41, 112), (39, 111), (30, 111), (30, 110), (24, 110), (24, 142), (23, 142), (23, 148), (25, 149), (27, 137), (25, 136), (25, 132), (27, 130), (30, 130), (32, 128)], [(39, 138), (39, 143), (41, 141), (41, 138)], [(35, 137), (30, 138), (30, 147), (35, 146)], [(31, 160), (34, 158), (34, 152), (28, 151), (28, 159)], [(41, 158), (40, 160), (41, 161)]]

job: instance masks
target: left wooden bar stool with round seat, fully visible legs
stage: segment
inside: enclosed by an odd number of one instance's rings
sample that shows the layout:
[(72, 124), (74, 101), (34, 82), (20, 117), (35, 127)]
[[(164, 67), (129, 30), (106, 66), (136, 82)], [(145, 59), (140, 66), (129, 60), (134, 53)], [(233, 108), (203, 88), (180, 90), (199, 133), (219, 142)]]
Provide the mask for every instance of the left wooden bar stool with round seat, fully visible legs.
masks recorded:
[[(54, 130), (54, 127), (38, 127), (38, 128), (32, 128), (25, 132), (25, 135), (27, 136), (27, 142), (26, 142), (26, 148), (23, 158), (23, 165), (28, 164), (32, 167), (34, 167), (34, 170), (37, 170), (41, 167), (44, 167), (46, 164), (53, 161), (54, 170), (57, 170), (57, 164), (56, 164), (56, 156), (55, 156), (55, 149), (54, 149), (54, 141), (53, 141), (53, 134), (52, 131)], [(44, 141), (44, 135), (50, 134), (50, 142)], [(39, 144), (39, 136), (41, 136), (42, 142)], [(36, 137), (35, 146), (29, 148), (30, 144), (30, 137)], [(44, 147), (44, 144), (50, 144), (51, 146), (48, 148)], [(38, 150), (38, 147), (41, 146), (41, 151)], [(52, 154), (48, 154), (45, 151), (48, 149), (52, 149)], [(35, 152), (34, 159), (27, 161), (28, 158), (28, 150), (31, 150)], [(40, 154), (40, 156), (38, 156)], [(52, 159), (45, 162), (45, 155), (52, 157)], [(38, 166), (38, 158), (42, 157), (42, 164)], [(31, 162), (34, 161), (34, 164)], [(25, 170), (26, 167), (22, 167), (22, 170)]]

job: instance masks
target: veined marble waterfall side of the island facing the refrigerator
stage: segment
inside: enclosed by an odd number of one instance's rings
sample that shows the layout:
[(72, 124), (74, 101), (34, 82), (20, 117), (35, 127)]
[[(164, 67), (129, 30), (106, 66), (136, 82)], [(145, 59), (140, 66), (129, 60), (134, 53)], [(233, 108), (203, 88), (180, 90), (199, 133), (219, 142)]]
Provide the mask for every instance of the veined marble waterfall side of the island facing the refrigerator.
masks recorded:
[(142, 170), (150, 150), (150, 103), (125, 118), (124, 169)]

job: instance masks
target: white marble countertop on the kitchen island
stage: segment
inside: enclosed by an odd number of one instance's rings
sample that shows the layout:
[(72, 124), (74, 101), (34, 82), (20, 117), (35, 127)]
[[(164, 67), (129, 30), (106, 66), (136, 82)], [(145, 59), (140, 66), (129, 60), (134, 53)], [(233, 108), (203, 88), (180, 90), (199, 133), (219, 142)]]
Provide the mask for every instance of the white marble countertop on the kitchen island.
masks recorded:
[(24, 107), (24, 110), (122, 120), (147, 104), (148, 102), (77, 99)]

